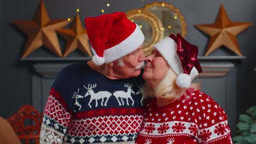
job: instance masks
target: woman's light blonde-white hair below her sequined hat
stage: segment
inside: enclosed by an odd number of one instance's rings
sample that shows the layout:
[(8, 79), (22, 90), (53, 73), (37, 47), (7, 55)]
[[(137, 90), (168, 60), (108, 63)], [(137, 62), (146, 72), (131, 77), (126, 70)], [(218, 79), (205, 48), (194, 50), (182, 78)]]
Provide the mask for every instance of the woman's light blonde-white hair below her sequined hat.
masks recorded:
[(165, 97), (167, 99), (179, 99), (182, 95), (187, 95), (187, 90), (194, 88), (200, 89), (200, 82), (191, 83), (189, 88), (180, 88), (176, 85), (175, 80), (177, 75), (169, 68), (164, 79), (154, 89), (150, 87), (149, 83), (145, 83), (143, 95), (145, 98), (150, 97)]

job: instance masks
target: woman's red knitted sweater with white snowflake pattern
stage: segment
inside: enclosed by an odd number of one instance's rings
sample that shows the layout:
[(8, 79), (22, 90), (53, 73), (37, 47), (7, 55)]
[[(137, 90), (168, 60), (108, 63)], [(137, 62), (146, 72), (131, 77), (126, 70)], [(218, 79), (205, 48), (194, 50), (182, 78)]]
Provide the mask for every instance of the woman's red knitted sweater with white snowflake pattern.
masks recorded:
[(225, 111), (211, 97), (194, 89), (184, 97), (162, 107), (150, 100), (136, 144), (232, 143)]

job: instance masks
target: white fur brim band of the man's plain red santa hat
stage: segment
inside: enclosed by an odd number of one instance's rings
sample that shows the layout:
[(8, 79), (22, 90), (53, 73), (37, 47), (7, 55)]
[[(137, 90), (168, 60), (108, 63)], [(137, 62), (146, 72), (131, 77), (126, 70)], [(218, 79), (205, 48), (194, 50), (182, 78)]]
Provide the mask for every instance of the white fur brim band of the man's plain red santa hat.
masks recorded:
[[(135, 31), (127, 37), (125, 40), (123, 40), (121, 43), (110, 47), (107, 50), (104, 50), (103, 56), (105, 58), (104, 63), (110, 63), (113, 62), (123, 56), (128, 55), (132, 51), (138, 49), (140, 45), (144, 42), (144, 35), (141, 31), (141, 28), (136, 24)], [(92, 53), (96, 55), (96, 52), (93, 47), (91, 47)], [(93, 60), (92, 60), (93, 61)]]

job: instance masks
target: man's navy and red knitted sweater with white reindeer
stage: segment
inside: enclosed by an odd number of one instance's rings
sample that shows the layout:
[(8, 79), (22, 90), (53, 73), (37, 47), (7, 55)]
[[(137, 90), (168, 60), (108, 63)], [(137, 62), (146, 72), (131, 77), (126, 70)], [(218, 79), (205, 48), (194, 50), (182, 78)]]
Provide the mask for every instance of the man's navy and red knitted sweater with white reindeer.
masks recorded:
[(134, 143), (143, 83), (141, 76), (110, 80), (86, 62), (62, 69), (45, 106), (40, 143)]

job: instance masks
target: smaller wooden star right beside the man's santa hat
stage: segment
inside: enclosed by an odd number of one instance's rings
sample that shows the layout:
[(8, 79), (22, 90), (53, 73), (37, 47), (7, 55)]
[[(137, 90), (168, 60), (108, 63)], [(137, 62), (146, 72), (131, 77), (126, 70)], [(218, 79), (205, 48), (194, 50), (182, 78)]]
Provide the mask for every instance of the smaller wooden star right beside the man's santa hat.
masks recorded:
[(75, 16), (71, 29), (58, 29), (57, 32), (67, 40), (63, 57), (66, 57), (76, 49), (92, 57), (87, 31), (84, 29), (78, 14)]

